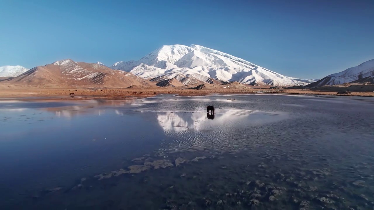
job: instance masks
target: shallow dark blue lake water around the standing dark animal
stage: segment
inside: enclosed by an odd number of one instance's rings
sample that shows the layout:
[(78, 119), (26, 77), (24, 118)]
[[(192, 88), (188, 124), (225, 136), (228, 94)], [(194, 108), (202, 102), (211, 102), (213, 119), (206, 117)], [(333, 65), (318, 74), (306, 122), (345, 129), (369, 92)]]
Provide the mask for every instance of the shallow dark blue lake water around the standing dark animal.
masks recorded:
[(0, 128), (0, 209), (374, 209), (372, 98), (0, 101)]

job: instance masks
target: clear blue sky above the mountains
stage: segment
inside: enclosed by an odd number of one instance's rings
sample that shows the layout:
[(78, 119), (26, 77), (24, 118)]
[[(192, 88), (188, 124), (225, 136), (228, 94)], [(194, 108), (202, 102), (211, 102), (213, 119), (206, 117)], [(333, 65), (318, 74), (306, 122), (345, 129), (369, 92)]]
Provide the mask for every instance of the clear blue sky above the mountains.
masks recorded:
[(171, 44), (321, 78), (374, 59), (374, 0), (0, 0), (0, 66), (110, 66)]

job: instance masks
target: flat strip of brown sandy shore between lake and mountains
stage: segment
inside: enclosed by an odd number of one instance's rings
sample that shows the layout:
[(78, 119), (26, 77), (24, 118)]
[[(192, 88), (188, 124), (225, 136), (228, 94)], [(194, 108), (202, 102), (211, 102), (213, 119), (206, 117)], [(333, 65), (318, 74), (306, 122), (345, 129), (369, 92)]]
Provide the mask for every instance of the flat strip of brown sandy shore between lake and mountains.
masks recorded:
[[(74, 93), (71, 97), (69, 93)], [(313, 94), (313, 95), (338, 95), (337, 92), (328, 90), (295, 90), (295, 89), (208, 89), (191, 90), (177, 88), (159, 89), (3, 89), (0, 90), (0, 99), (22, 98), (22, 97), (52, 97), (50, 99), (68, 98), (73, 100), (85, 99), (123, 99), (128, 97), (148, 97), (157, 94), (180, 94), (186, 96), (206, 95), (212, 93), (227, 94), (250, 94), (250, 93), (283, 93), (283, 94)], [(374, 97), (374, 92), (352, 92), (343, 96), (370, 96)]]

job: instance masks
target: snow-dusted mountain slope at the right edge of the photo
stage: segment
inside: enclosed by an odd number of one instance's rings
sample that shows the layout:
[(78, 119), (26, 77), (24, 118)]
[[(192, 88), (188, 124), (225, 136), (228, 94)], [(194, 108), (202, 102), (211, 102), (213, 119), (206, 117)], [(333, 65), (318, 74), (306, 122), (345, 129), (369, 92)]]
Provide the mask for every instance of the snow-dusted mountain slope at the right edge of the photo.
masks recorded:
[(374, 76), (374, 59), (366, 61), (356, 67), (348, 68), (339, 73), (328, 75), (315, 83), (307, 85), (307, 87), (320, 87), (324, 85), (336, 85), (349, 83), (356, 80), (362, 80)]

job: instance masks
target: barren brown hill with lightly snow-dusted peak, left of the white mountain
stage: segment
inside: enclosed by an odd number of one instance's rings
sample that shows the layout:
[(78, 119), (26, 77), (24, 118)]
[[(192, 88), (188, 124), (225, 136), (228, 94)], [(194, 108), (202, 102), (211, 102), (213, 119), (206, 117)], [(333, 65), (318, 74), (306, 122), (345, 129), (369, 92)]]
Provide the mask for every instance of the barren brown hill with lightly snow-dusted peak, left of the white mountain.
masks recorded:
[(129, 72), (112, 70), (98, 64), (74, 62), (71, 59), (56, 61), (39, 66), (9, 80), (7, 84), (39, 86), (43, 88), (60, 87), (109, 87), (126, 88), (129, 86), (155, 87)]

